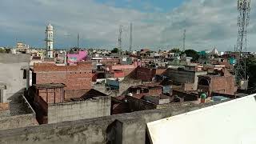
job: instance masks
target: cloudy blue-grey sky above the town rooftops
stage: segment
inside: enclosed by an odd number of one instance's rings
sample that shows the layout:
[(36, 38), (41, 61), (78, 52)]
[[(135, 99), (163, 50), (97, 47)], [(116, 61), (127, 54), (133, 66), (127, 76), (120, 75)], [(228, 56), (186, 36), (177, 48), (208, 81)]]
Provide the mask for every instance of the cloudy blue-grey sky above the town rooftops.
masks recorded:
[[(256, 13), (251, 3), (247, 49), (255, 51)], [(118, 46), (123, 26), (123, 49), (127, 50), (130, 22), (133, 49), (234, 50), (238, 35), (236, 0), (1, 0), (0, 46), (25, 42), (45, 47), (46, 25), (54, 26), (54, 48)]]

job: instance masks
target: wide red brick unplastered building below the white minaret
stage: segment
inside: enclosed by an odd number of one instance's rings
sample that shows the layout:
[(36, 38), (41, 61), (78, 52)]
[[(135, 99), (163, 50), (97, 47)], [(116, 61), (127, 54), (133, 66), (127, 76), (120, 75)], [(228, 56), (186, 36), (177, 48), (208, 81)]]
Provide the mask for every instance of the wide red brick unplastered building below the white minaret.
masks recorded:
[(75, 66), (56, 66), (52, 63), (34, 64), (33, 84), (63, 83), (65, 98), (79, 98), (92, 88), (91, 62), (78, 62)]

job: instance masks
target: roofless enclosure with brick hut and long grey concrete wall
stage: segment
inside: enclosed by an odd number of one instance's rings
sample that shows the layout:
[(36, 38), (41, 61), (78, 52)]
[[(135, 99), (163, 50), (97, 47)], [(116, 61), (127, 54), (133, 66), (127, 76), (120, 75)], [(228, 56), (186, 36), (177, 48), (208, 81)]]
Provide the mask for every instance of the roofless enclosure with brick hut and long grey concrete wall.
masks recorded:
[(97, 90), (88, 90), (80, 98), (66, 100), (63, 93), (64, 84), (38, 84), (34, 87), (36, 94), (30, 90), (30, 95), (34, 95), (31, 97), (34, 97), (36, 105), (39, 106), (36, 111), (40, 124), (110, 115), (110, 97)]

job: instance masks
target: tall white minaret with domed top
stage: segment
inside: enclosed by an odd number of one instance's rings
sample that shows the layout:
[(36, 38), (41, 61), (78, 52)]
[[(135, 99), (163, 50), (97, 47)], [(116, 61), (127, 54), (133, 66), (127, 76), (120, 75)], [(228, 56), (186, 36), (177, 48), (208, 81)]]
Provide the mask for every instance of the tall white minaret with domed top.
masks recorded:
[(54, 58), (54, 27), (46, 26), (46, 58)]

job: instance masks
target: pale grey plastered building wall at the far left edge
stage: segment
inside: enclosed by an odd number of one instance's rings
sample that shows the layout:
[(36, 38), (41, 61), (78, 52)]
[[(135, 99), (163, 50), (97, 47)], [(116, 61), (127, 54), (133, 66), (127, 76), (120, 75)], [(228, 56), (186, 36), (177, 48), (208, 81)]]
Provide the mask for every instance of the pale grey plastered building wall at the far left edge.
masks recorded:
[(23, 78), (23, 70), (29, 68), (29, 62), (29, 54), (0, 54), (0, 83), (6, 85), (3, 102), (10, 102), (29, 85), (29, 74)]

